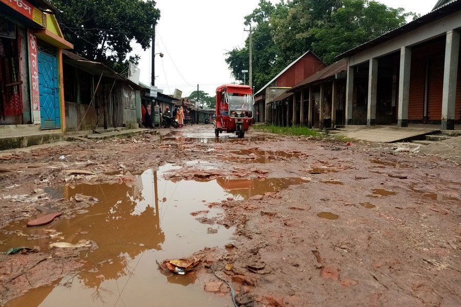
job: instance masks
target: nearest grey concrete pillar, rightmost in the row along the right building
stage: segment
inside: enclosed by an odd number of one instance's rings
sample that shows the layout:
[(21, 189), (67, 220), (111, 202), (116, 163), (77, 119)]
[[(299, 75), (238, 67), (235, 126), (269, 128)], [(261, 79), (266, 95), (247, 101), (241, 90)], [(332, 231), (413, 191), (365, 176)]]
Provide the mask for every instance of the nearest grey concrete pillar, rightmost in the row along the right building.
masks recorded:
[(458, 76), (459, 30), (447, 32), (445, 43), (442, 129), (454, 129), (456, 80)]

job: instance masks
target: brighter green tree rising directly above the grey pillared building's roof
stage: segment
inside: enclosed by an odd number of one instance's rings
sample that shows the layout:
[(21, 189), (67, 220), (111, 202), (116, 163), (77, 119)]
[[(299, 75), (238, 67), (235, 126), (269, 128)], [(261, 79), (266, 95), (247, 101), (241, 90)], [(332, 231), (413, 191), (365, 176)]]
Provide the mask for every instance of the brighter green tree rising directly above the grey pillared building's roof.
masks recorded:
[(344, 0), (343, 6), (331, 14), (331, 22), (311, 29), (316, 41), (313, 51), (327, 63), (351, 48), (406, 24), (413, 13), (403, 8), (389, 8), (366, 0)]

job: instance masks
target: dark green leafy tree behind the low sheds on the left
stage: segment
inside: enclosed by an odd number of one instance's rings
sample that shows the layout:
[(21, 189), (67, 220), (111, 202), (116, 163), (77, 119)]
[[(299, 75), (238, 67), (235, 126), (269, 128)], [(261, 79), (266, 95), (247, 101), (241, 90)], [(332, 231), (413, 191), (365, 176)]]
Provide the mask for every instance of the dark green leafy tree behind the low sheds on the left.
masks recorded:
[[(127, 64), (131, 41), (146, 50), (160, 18), (155, 1), (148, 0), (52, 0), (73, 52), (103, 62), (116, 71)], [(135, 56), (134, 61), (139, 59)]]

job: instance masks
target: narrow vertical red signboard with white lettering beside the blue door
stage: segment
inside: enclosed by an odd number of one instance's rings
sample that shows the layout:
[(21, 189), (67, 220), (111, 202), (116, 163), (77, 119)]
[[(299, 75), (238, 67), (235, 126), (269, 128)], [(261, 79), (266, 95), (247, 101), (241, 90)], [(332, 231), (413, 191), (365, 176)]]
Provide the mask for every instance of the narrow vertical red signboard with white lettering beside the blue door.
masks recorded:
[(37, 38), (29, 30), (29, 61), (30, 61), (30, 76), (31, 76), (31, 98), (32, 98), (32, 114), (34, 124), (40, 123), (40, 93), (38, 91), (38, 50)]

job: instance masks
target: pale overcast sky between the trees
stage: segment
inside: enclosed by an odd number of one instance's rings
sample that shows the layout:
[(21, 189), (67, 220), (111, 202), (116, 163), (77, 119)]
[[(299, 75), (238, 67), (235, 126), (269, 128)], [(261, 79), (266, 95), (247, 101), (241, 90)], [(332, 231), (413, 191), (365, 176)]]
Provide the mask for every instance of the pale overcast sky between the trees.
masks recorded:
[[(187, 97), (199, 90), (214, 96), (216, 87), (234, 79), (225, 62), (225, 53), (242, 48), (248, 32), (244, 31), (245, 15), (257, 8), (259, 0), (156, 0), (160, 20), (156, 28), (155, 85), (164, 94), (175, 89)], [(278, 3), (279, 0), (271, 0)], [(403, 7), (407, 12), (428, 13), (436, 0), (381, 0), (389, 7)], [(247, 28), (248, 29), (248, 28)], [(141, 56), (140, 81), (151, 84), (151, 49), (143, 51), (134, 45)], [(246, 78), (248, 82), (248, 77)]]

